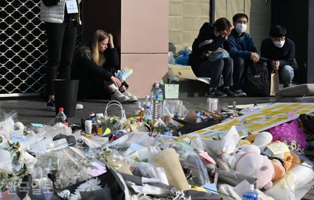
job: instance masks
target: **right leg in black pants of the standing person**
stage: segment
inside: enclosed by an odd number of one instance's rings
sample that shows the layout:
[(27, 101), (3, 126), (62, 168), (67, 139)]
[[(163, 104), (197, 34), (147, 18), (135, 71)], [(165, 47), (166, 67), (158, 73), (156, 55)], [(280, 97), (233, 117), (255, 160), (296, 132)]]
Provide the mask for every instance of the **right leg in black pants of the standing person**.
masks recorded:
[(60, 78), (69, 79), (71, 75), (71, 65), (77, 41), (77, 22), (66, 22), (63, 36), (63, 45), (60, 60)]

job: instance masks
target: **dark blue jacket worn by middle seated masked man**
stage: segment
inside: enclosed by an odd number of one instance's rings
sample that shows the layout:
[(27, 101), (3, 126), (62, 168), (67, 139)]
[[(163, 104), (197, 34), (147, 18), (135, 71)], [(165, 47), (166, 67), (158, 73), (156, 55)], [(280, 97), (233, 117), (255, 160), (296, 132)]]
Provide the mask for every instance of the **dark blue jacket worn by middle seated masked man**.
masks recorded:
[(240, 36), (236, 32), (235, 28), (232, 29), (227, 41), (230, 48), (230, 57), (243, 57), (244, 59), (250, 59), (251, 53), (257, 51), (253, 39), (250, 34), (243, 32)]

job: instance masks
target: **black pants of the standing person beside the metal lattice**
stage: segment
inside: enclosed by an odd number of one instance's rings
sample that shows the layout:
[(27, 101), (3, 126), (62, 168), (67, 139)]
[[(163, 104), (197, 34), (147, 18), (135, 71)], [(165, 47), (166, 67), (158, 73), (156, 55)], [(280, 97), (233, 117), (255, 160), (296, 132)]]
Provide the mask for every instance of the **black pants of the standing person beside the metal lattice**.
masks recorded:
[(59, 68), (60, 78), (69, 79), (76, 44), (77, 22), (62, 24), (46, 22), (48, 62), (46, 65), (46, 89), (54, 95), (52, 79), (56, 79)]

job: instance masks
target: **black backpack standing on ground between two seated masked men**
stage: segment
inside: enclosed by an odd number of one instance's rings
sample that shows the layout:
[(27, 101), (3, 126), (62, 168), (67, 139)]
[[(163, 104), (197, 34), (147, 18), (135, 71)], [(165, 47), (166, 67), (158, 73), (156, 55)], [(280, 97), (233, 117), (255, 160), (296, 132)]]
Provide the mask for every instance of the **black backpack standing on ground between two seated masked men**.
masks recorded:
[(269, 73), (268, 68), (261, 62), (248, 63), (244, 74), (243, 89), (247, 96), (269, 96)]

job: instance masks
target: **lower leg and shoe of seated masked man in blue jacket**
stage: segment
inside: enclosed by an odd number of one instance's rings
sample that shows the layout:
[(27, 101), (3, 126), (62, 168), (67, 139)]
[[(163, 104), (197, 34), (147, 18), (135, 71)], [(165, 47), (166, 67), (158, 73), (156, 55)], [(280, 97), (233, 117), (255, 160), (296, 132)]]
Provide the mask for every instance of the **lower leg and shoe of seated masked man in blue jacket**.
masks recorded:
[(242, 90), (242, 79), (245, 69), (245, 60), (242, 57), (233, 58), (234, 61), (234, 71), (233, 71), (233, 82), (234, 91), (238, 97), (245, 97), (246, 94)]

